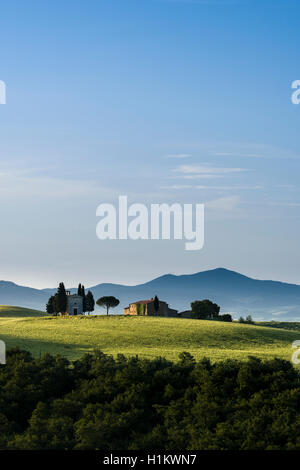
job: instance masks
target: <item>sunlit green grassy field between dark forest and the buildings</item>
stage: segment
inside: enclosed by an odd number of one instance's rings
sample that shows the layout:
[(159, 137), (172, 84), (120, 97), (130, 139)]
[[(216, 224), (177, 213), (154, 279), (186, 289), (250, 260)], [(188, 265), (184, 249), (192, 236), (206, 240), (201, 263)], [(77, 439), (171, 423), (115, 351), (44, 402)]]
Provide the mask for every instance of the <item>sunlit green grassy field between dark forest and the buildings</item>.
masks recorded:
[(98, 348), (107, 354), (164, 356), (177, 360), (181, 351), (196, 358), (290, 359), (291, 344), (300, 339), (294, 329), (155, 317), (48, 317), (36, 310), (0, 307), (0, 339), (38, 356), (44, 352), (76, 359)]

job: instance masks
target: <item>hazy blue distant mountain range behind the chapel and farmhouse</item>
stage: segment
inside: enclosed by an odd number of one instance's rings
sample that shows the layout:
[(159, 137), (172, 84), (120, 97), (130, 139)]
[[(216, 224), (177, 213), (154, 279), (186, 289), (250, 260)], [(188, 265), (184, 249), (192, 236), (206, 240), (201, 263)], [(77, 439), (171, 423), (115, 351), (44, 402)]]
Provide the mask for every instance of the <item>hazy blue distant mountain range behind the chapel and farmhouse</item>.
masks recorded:
[[(89, 289), (95, 300), (103, 295), (120, 299), (114, 313), (123, 313), (130, 302), (157, 295), (179, 311), (189, 309), (193, 300), (211, 299), (221, 306), (221, 312), (230, 312), (234, 318), (250, 314), (256, 320), (300, 321), (299, 285), (252, 279), (224, 268), (180, 276), (167, 274), (137, 286), (104, 283)], [(0, 304), (45, 310), (55, 292), (0, 281)]]

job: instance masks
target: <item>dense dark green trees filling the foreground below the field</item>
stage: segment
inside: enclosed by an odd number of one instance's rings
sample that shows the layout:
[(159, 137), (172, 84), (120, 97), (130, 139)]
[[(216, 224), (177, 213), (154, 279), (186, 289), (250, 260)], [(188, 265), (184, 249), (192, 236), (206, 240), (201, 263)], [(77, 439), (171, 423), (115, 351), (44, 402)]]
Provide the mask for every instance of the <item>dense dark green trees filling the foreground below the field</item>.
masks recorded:
[(13, 349), (0, 366), (1, 449), (300, 449), (288, 361), (65, 358)]

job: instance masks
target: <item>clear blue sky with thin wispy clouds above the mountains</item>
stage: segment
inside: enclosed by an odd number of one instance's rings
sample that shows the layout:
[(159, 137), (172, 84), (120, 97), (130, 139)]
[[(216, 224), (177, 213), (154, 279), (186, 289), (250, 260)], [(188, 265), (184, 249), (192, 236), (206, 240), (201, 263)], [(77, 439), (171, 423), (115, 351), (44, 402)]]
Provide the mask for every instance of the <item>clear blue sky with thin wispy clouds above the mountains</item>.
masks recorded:
[[(1, 5), (0, 278), (300, 283), (296, 0)], [(96, 207), (206, 205), (205, 246), (100, 241)]]

